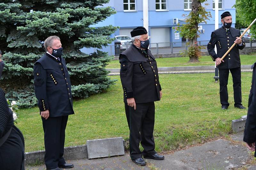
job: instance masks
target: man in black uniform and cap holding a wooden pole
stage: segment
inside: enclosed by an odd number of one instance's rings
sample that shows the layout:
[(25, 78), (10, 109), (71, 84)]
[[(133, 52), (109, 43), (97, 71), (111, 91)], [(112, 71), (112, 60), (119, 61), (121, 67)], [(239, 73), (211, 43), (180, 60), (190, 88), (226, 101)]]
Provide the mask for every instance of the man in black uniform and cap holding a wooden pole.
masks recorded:
[[(216, 61), (216, 66), (219, 68), (220, 73), (220, 103), (222, 109), (228, 109), (228, 75), (229, 70), (233, 78), (234, 89), (234, 106), (239, 109), (245, 109), (242, 105), (242, 92), (241, 92), (241, 63), (239, 56), (239, 49), (245, 47), (245, 43), (240, 39), (240, 30), (231, 27), (232, 16), (230, 12), (221, 14), (222, 27), (212, 32), (211, 40), (208, 43), (207, 50)], [(228, 49), (236, 43), (236, 46), (227, 54), (227, 56), (220, 61), (221, 57), (228, 51)], [(217, 54), (214, 51), (215, 44), (217, 46)]]

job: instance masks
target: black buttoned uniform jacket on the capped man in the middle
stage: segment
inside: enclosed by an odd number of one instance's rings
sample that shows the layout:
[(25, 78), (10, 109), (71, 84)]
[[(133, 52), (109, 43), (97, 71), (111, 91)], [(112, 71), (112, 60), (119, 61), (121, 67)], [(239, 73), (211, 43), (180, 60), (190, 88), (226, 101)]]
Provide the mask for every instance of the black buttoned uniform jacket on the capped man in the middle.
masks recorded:
[(119, 56), (120, 77), (124, 90), (124, 103), (134, 97), (135, 103), (148, 103), (160, 100), (162, 90), (156, 60), (150, 50), (147, 53), (132, 45)]

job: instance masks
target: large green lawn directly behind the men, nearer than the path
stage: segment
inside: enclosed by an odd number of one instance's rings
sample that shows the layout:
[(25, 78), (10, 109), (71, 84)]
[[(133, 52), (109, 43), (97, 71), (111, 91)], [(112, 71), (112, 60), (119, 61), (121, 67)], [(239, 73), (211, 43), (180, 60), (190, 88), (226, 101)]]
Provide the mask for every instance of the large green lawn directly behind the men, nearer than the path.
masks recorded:
[[(214, 74), (160, 74), (163, 98), (156, 102), (155, 142), (157, 151), (171, 151), (201, 143), (231, 132), (231, 120), (247, 114), (234, 108), (232, 77), (230, 106), (221, 110), (219, 83)], [(248, 104), (252, 73), (242, 73), (242, 98)], [(88, 139), (129, 138), (119, 76), (106, 92), (74, 101), (75, 115), (68, 118), (65, 146), (82, 145)], [(150, 92), (149, 92), (150, 93)], [(17, 127), (25, 138), (25, 150), (44, 149), (44, 133), (38, 108), (19, 110)]]

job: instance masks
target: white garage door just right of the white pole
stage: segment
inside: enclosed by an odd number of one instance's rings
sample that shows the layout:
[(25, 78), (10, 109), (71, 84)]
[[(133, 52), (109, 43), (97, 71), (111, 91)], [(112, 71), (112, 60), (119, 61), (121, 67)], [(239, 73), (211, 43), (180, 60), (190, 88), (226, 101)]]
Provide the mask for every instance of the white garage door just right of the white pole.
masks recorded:
[[(158, 43), (158, 47), (170, 46), (170, 27), (150, 28), (150, 43)], [(151, 44), (156, 47), (156, 44)]]

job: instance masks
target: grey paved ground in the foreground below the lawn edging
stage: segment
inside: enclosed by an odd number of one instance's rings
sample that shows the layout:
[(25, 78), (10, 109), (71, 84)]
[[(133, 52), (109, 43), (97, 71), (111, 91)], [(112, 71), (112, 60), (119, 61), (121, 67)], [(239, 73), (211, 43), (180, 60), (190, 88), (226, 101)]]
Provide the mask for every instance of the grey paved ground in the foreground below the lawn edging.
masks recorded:
[[(70, 160), (74, 170), (255, 170), (251, 165), (253, 155), (245, 147), (243, 133), (231, 136), (230, 140), (218, 139), (200, 146), (164, 154), (164, 160), (145, 159), (146, 166), (138, 166), (132, 162), (128, 153), (101, 159)], [(255, 162), (255, 161), (254, 161)], [(27, 166), (26, 169), (44, 170), (45, 166)]]

